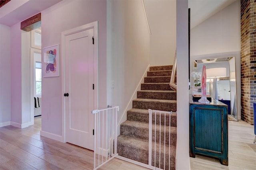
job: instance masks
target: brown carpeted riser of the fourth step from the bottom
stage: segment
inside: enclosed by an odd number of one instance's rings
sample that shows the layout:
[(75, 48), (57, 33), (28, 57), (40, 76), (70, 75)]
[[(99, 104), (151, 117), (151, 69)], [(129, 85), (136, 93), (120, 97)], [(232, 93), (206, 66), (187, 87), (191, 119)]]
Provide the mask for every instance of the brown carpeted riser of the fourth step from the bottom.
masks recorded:
[(133, 101), (132, 108), (137, 109), (152, 109), (152, 110), (163, 110), (163, 111), (176, 111), (176, 103), (160, 103), (160, 102), (140, 102)]

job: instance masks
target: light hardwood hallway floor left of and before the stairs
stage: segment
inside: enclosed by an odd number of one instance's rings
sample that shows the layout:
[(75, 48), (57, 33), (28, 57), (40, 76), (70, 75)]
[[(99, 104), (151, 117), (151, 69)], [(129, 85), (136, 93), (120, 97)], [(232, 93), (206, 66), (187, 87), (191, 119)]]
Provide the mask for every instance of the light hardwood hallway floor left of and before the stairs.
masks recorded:
[[(41, 117), (34, 125), (19, 129), (0, 127), (0, 169), (92, 170), (93, 151), (40, 136)], [(142, 170), (141, 166), (113, 159), (100, 170)]]

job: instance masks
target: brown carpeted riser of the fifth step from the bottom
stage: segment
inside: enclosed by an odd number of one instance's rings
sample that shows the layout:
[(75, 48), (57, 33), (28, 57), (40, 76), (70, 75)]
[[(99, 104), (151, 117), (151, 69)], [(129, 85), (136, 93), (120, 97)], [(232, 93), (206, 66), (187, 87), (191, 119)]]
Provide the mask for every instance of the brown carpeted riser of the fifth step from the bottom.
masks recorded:
[(159, 99), (159, 100), (176, 100), (176, 92), (150, 92), (150, 91), (138, 91), (137, 98), (141, 99)]

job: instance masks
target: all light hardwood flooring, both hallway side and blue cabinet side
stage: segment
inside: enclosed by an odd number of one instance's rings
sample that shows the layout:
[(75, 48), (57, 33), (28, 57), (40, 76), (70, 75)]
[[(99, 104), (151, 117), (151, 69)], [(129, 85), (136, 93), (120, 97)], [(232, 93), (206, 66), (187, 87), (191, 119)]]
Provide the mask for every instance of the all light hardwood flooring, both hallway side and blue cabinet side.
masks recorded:
[[(253, 144), (253, 126), (243, 121), (229, 121), (229, 166), (219, 160), (198, 156), (190, 158), (192, 170), (230, 169), (256, 170), (256, 145)], [(33, 126), (19, 129), (0, 127), (0, 169), (7, 170), (92, 170), (93, 152), (68, 143), (40, 136), (41, 118)], [(114, 158), (100, 170), (142, 170), (141, 166)]]

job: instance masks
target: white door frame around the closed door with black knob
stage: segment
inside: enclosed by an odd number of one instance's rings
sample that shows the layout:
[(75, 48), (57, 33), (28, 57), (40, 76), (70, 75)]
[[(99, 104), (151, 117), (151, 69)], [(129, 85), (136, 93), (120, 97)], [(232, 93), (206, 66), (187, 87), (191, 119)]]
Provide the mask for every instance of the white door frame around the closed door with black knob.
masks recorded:
[(61, 65), (62, 65), (62, 139), (66, 142), (66, 109), (65, 109), (65, 100), (64, 93), (65, 90), (65, 39), (66, 36), (77, 33), (80, 31), (84, 31), (87, 29), (94, 29), (94, 109), (98, 109), (98, 21), (94, 21), (92, 23), (88, 23), (76, 28), (72, 28), (61, 33)]

